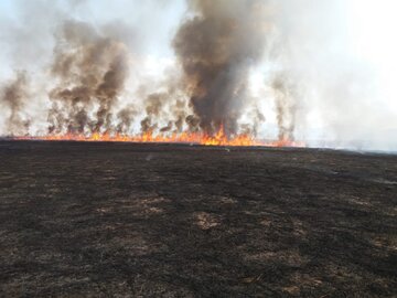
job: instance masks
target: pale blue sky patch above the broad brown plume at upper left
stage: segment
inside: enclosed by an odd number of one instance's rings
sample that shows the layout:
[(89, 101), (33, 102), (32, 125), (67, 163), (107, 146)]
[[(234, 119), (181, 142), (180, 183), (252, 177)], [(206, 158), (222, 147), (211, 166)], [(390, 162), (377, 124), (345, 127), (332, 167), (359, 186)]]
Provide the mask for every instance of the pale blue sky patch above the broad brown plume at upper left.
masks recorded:
[[(10, 35), (20, 35), (25, 40), (26, 46), (42, 42), (43, 46), (40, 47), (40, 53), (34, 53), (36, 56), (41, 56), (42, 52), (51, 53), (52, 51), (51, 40), (56, 30), (56, 23), (61, 19), (73, 18), (88, 21), (94, 25), (120, 23), (128, 28), (126, 34), (132, 39), (131, 43), (133, 39), (139, 40), (139, 43), (133, 44), (135, 52), (170, 58), (172, 56), (170, 40), (185, 10), (186, 4), (183, 0), (147, 0), (144, 4), (141, 1), (128, 0), (1, 0), (0, 42), (3, 47), (11, 45), (10, 51), (14, 50), (10, 42)], [(33, 34), (30, 36), (33, 31), (35, 32), (34, 36), (32, 36)], [(153, 35), (155, 35), (154, 39)], [(21, 44), (24, 45), (19, 43), (18, 46)], [(7, 58), (4, 55), (1, 57), (4, 61)], [(9, 61), (6, 64), (14, 62)], [(26, 63), (23, 60), (22, 62)]]

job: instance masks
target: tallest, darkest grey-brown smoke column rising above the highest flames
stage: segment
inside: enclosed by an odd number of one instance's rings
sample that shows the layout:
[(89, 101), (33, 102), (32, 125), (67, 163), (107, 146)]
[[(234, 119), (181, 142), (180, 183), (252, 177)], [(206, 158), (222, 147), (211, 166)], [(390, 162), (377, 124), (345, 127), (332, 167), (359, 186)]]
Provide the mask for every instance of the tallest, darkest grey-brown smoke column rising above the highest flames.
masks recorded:
[[(180, 26), (173, 47), (191, 105), (208, 134), (235, 134), (245, 107), (249, 66), (261, 58), (268, 30), (259, 0), (192, 0), (194, 17)], [(189, 121), (194, 118), (190, 117)]]

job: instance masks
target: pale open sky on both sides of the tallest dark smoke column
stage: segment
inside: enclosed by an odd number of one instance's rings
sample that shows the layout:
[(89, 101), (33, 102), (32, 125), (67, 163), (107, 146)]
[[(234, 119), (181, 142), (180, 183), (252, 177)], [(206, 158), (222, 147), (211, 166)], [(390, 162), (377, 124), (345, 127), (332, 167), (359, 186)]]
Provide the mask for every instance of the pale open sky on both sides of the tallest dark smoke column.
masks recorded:
[[(267, 118), (261, 137), (277, 135), (268, 81), (282, 70), (299, 85), (298, 139), (320, 146), (395, 150), (397, 2), (273, 2), (277, 30), (269, 41), (282, 46), (275, 47), (276, 55), (265, 49), (264, 58), (250, 71), (250, 89)], [(178, 68), (171, 42), (189, 17), (184, 0), (0, 0), (0, 79), (7, 82), (15, 70), (26, 70), (45, 82), (44, 66), (52, 60), (60, 20), (72, 18), (95, 26), (106, 24), (110, 32), (117, 26), (118, 34), (124, 34), (133, 62), (127, 86), (132, 92), (142, 77), (154, 82), (170, 67)], [(36, 111), (40, 108), (32, 106)]]

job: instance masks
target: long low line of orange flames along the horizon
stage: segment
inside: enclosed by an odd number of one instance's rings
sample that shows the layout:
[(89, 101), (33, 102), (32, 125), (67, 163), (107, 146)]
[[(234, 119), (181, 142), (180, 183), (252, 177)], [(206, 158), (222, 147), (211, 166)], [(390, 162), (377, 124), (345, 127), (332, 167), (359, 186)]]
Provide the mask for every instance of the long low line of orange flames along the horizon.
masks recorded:
[(94, 132), (93, 135), (64, 134), (47, 136), (26, 136), (19, 137), (21, 140), (69, 140), (69, 141), (119, 141), (119, 142), (168, 142), (168, 143), (195, 143), (204, 146), (267, 146), (267, 147), (304, 147), (303, 142), (290, 140), (260, 141), (253, 136), (242, 134), (227, 137), (223, 127), (213, 136), (203, 132), (173, 132), (170, 135), (157, 135), (153, 131), (147, 131), (141, 135), (121, 135), (109, 132)]

